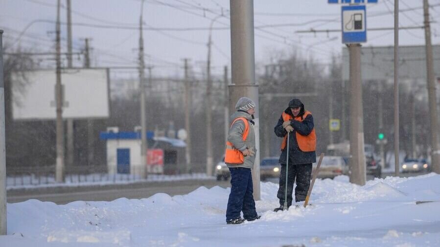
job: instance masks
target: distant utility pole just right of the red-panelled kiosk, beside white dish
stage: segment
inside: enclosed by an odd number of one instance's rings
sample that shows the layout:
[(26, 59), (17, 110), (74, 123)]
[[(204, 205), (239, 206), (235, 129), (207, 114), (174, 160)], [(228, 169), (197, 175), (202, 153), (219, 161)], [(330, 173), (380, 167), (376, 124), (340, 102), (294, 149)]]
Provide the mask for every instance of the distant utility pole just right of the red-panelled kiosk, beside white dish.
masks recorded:
[(189, 122), (191, 114), (191, 85), (188, 76), (188, 59), (185, 62), (185, 129), (186, 129), (186, 173), (191, 173), (191, 124)]

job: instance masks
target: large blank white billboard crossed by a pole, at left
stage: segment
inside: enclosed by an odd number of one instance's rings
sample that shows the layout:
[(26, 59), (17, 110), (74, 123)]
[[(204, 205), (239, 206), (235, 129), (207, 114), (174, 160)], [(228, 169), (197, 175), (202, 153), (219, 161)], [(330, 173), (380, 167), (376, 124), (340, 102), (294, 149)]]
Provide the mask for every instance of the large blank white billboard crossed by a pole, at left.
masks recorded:
[[(55, 84), (55, 70), (36, 70), (13, 74), (13, 118), (17, 120), (55, 119)], [(63, 87), (63, 118), (109, 117), (108, 69), (63, 69), (61, 84)]]

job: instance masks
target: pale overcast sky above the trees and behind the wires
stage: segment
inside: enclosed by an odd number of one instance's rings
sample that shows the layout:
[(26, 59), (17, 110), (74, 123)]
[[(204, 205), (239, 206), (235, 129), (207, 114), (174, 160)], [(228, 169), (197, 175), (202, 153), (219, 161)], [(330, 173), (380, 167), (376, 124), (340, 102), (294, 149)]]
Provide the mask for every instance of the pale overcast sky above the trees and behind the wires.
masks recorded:
[[(15, 46), (38, 47), (54, 51), (56, 0), (0, 0), (0, 28), (4, 42)], [(140, 0), (71, 0), (73, 49), (84, 47), (83, 38), (91, 38), (93, 66), (136, 66)], [(66, 22), (66, 0), (61, 0), (61, 21)], [(143, 17), (146, 64), (154, 66), (157, 76), (183, 75), (183, 58), (200, 71), (207, 60), (208, 27), (221, 15), (212, 30), (212, 69), (220, 75), (223, 66), (231, 64), (229, 0), (145, 0)], [(401, 26), (421, 26), (422, 0), (400, 0)], [(367, 26), (393, 27), (394, 0), (379, 0), (367, 5)], [(432, 42), (439, 44), (440, 0), (430, 0)], [(274, 51), (297, 50), (303, 56), (314, 56), (321, 63), (332, 54), (340, 56), (341, 32), (296, 33), (300, 30), (340, 29), (341, 5), (327, 0), (255, 0), (255, 63), (270, 63)], [(35, 21), (39, 20), (39, 21)], [(35, 21), (35, 22), (34, 22)], [(32, 24), (30, 24), (32, 23)], [(30, 24), (30, 26), (29, 26)], [(28, 27), (27, 29), (25, 29)], [(19, 41), (17, 37), (21, 32)], [(370, 45), (393, 45), (393, 30), (370, 31)], [(66, 51), (66, 25), (62, 25)], [(401, 30), (400, 45), (423, 45), (423, 29)], [(75, 57), (77, 59), (77, 57)], [(81, 58), (82, 59), (82, 58)], [(76, 60), (76, 66), (82, 61)], [(54, 63), (53, 63), (54, 64)], [(136, 70), (112, 70), (112, 76), (136, 77)]]

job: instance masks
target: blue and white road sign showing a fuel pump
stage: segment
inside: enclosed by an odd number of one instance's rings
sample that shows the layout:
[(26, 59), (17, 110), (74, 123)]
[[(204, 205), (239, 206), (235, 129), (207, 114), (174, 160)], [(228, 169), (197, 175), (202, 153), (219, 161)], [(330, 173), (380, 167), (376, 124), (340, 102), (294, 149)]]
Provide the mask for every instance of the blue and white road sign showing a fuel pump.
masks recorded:
[(342, 43), (367, 42), (365, 5), (342, 6)]

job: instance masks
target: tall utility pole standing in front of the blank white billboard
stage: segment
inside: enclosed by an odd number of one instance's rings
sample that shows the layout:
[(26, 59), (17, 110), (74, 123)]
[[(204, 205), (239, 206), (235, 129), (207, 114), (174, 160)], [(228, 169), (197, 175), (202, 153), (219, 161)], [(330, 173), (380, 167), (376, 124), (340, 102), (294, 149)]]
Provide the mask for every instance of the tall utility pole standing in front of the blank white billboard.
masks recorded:
[(60, 0), (57, 1), (56, 21), (56, 167), (55, 179), (64, 182), (64, 128), (63, 128), (63, 91), (61, 85), (61, 38), (60, 38)]

